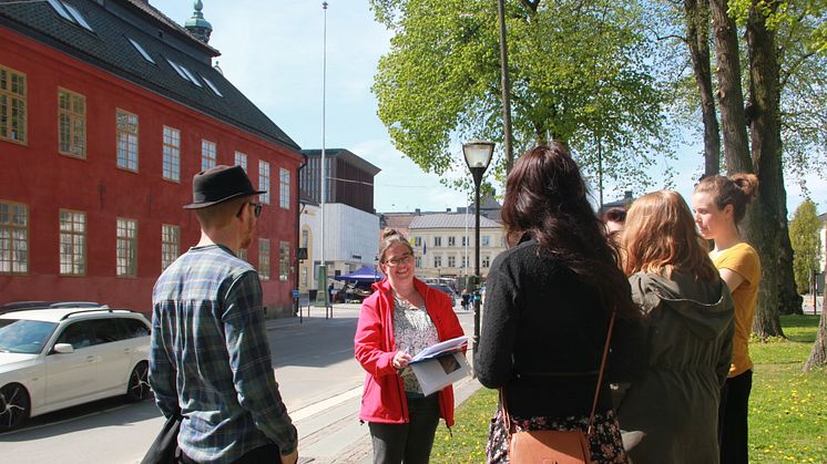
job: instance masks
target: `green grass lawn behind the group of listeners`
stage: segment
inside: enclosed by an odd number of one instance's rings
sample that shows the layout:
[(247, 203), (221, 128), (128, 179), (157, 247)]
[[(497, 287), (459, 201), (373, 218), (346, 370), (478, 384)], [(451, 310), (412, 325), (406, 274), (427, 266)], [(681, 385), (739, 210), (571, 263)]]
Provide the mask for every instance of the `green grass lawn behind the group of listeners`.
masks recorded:
[[(827, 463), (827, 370), (802, 373), (818, 316), (783, 316), (787, 339), (749, 344), (755, 363), (749, 398), (749, 461)], [(480, 389), (457, 409), (452, 436), (439, 427), (431, 461), (486, 462), (497, 392)]]

